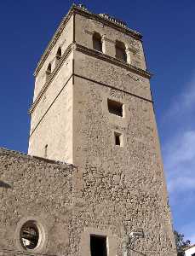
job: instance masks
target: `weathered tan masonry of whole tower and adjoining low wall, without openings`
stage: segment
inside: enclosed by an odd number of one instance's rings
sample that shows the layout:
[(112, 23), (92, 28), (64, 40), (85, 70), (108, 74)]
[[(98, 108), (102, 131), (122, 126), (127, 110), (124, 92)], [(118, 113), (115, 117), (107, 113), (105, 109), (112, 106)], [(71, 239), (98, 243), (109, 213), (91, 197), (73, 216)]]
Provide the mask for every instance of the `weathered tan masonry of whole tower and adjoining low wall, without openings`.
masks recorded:
[[(175, 256), (141, 37), (82, 8), (67, 17), (38, 64), (30, 111), (28, 152), (48, 160), (0, 150), (3, 255), (26, 253), (17, 230), (36, 218), (47, 236), (31, 253), (90, 256), (94, 234), (106, 236), (109, 256)], [(93, 49), (94, 32), (102, 53)], [(115, 58), (116, 40), (128, 63)], [(123, 104), (123, 117), (109, 112), (107, 99)], [(129, 234), (139, 230), (144, 238), (132, 241)]]

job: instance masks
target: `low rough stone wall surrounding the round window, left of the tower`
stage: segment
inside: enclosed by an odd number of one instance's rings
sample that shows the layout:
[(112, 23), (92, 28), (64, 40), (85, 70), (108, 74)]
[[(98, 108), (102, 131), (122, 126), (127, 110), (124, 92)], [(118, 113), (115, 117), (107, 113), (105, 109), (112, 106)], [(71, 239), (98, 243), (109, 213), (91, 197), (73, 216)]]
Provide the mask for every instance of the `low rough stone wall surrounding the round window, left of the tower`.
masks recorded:
[(48, 233), (42, 253), (69, 255), (74, 170), (60, 162), (0, 148), (1, 255), (20, 250), (15, 231), (20, 220), (30, 216), (39, 218)]

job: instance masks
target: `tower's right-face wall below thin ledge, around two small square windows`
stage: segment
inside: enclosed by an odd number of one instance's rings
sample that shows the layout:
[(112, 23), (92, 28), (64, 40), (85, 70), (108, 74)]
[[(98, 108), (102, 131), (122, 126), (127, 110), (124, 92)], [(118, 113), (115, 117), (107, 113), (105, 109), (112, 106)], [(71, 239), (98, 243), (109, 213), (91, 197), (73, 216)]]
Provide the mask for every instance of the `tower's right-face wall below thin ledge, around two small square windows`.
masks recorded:
[[(108, 112), (107, 98), (124, 103), (124, 118)], [(84, 178), (84, 207), (74, 215), (77, 243), (84, 226), (111, 230), (122, 255), (124, 230), (142, 228), (146, 238), (135, 242), (137, 252), (176, 255), (152, 103), (76, 78), (73, 127), (73, 163)], [(114, 131), (123, 133), (123, 148), (114, 145)]]

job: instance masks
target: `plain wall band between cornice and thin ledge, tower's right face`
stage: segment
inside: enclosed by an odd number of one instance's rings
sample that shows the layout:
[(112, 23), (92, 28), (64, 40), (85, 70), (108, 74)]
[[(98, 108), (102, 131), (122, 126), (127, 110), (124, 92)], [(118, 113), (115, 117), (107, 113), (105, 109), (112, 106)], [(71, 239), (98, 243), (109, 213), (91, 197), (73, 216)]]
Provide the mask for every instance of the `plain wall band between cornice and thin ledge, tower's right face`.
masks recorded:
[(152, 100), (149, 80), (129, 70), (77, 52), (74, 54), (75, 74), (126, 90)]

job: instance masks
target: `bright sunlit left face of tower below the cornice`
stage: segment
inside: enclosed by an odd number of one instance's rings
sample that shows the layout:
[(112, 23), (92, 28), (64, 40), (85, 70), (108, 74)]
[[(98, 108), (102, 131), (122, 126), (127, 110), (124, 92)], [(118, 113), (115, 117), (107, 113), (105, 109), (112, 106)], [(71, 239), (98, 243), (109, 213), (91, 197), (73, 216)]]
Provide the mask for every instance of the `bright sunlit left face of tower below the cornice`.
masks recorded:
[(28, 154), (72, 163), (72, 102), (71, 54), (32, 112)]

